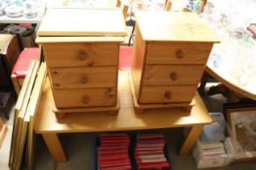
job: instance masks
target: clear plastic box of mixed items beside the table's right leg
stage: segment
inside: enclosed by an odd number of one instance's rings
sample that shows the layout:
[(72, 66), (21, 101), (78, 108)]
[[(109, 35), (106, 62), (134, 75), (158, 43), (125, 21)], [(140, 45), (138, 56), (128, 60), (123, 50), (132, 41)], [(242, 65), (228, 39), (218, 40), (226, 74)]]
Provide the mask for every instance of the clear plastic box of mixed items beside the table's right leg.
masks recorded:
[(226, 166), (242, 153), (222, 113), (210, 115), (213, 122), (203, 127), (192, 151), (197, 168)]

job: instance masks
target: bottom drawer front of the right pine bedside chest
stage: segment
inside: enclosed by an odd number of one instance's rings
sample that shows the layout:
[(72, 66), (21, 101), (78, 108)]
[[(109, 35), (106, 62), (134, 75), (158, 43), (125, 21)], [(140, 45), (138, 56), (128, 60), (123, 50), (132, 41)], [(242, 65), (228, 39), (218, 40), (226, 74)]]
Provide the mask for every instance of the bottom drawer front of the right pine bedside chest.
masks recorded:
[(195, 93), (193, 86), (143, 86), (140, 103), (191, 102)]

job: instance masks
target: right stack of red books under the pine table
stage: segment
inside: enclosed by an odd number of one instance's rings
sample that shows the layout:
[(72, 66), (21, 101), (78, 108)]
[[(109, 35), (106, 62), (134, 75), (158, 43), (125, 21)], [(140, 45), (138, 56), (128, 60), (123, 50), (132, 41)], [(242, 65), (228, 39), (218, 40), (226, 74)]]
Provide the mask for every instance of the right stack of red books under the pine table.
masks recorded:
[(134, 152), (138, 169), (168, 170), (170, 164), (165, 157), (164, 146), (165, 140), (163, 134), (138, 134)]

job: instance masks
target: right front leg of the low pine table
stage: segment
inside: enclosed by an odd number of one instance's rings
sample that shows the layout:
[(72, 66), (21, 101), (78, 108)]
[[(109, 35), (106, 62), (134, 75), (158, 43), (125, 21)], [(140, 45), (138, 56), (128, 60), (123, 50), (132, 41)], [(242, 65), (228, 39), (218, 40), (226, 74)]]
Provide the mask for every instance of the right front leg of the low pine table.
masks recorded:
[(182, 146), (180, 155), (185, 155), (191, 152), (194, 143), (196, 142), (199, 134), (202, 131), (202, 128), (203, 128), (203, 124), (194, 124), (192, 126), (192, 129)]

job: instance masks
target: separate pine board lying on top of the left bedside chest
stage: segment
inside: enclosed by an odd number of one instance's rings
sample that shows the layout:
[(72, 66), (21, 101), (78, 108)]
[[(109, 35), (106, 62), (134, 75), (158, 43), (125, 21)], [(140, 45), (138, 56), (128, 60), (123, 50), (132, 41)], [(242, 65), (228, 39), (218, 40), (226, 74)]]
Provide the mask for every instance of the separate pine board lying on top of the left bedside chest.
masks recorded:
[(37, 36), (125, 36), (121, 10), (51, 9)]

